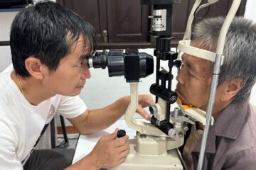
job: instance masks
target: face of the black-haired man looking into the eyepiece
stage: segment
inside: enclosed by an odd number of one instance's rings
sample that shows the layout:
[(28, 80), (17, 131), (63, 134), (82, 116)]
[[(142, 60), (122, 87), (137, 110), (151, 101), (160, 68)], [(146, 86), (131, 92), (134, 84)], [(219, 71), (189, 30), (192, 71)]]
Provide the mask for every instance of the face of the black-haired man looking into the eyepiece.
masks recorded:
[(70, 53), (60, 60), (55, 72), (48, 72), (43, 81), (45, 87), (52, 94), (76, 96), (85, 86), (86, 79), (90, 79), (90, 70), (87, 67), (87, 57), (90, 47), (85, 45), (82, 37), (71, 47)]

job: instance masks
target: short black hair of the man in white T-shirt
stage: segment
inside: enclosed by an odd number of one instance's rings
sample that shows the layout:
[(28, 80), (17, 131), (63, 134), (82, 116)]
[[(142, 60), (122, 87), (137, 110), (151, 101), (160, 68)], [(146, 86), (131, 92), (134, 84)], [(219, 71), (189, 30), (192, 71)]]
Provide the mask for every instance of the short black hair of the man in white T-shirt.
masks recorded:
[(55, 71), (80, 35), (93, 52), (95, 28), (73, 11), (53, 1), (40, 1), (24, 8), (11, 25), (11, 56), (16, 74), (30, 77), (25, 60), (32, 55)]

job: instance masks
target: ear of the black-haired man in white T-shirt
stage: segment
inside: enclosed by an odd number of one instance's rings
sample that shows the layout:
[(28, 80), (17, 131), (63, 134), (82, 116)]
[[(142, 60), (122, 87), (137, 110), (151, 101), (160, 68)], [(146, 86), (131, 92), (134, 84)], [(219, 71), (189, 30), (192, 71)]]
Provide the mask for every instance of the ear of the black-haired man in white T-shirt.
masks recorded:
[(43, 79), (43, 64), (38, 58), (31, 56), (25, 60), (25, 66), (29, 74), (35, 79)]

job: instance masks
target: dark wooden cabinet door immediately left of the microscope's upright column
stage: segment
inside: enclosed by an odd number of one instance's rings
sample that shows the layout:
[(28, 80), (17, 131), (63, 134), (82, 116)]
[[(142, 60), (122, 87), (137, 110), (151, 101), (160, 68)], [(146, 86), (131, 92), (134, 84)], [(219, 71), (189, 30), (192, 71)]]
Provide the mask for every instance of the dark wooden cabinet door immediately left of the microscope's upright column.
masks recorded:
[(149, 6), (140, 0), (107, 0), (110, 43), (149, 42)]

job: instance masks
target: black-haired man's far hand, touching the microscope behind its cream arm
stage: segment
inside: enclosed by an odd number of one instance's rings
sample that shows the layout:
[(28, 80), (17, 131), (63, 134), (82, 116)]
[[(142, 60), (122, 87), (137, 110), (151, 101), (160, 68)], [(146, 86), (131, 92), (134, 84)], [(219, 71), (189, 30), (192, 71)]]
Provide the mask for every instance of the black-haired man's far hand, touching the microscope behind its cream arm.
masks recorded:
[(139, 106), (137, 107), (136, 112), (139, 115), (142, 115), (142, 118), (149, 120), (150, 115), (143, 108), (154, 105), (154, 99), (150, 94), (139, 95)]

